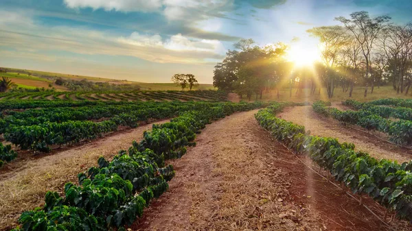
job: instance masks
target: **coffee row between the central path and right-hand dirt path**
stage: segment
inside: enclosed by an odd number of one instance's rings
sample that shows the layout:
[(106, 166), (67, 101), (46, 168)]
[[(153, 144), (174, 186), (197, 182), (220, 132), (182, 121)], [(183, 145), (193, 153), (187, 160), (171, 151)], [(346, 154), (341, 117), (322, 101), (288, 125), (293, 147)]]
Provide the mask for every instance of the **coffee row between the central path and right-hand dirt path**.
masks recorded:
[(320, 167), (330, 171), (353, 193), (366, 194), (382, 206), (395, 210), (402, 219), (412, 221), (412, 162), (376, 160), (353, 144), (339, 143), (336, 138), (310, 136), (304, 126), (275, 117), (282, 110), (275, 104), (260, 110), (256, 119), (275, 138), (295, 154), (306, 154)]

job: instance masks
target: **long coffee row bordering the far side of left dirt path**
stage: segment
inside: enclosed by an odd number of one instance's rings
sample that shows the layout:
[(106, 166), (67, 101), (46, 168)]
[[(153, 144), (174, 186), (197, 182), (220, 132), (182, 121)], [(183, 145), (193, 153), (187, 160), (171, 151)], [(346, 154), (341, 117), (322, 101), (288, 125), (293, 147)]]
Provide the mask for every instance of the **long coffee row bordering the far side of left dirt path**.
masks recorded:
[[(75, 114), (78, 114), (78, 119), (91, 119), (95, 116), (95, 110), (93, 107), (86, 108), (85, 110), (71, 110), (70, 108), (58, 108), (57, 110), (30, 110), (27, 112), (17, 112), (12, 115), (12, 123), (6, 124), (4, 127), (5, 141), (11, 142), (13, 145), (20, 147), (21, 149), (34, 149), (36, 151), (50, 151), (51, 145), (67, 145), (78, 143), (84, 140), (91, 140), (103, 136), (104, 134), (114, 132), (118, 129), (119, 125), (128, 127), (137, 127), (139, 121), (147, 121), (148, 119), (165, 119), (175, 117), (181, 112), (188, 110), (196, 110), (199, 108), (205, 108), (207, 106), (218, 106), (220, 104), (230, 103), (211, 103), (211, 102), (144, 102), (137, 105), (128, 105), (122, 107), (108, 107), (107, 116), (111, 116), (106, 121), (93, 122), (93, 121), (64, 121), (75, 118)], [(100, 108), (106, 110), (105, 108)], [(65, 110), (65, 113), (57, 114), (54, 117), (56, 111)], [(42, 112), (45, 113), (45, 117), (40, 116)], [(78, 113), (79, 112), (79, 113)], [(82, 113), (84, 112), (84, 113)], [(100, 111), (102, 112), (102, 111)], [(23, 114), (20, 119), (19, 114)], [(25, 117), (27, 114), (32, 117)], [(102, 114), (104, 116), (104, 114)], [(54, 120), (50, 122), (48, 120)], [(96, 119), (96, 117), (94, 117)], [(7, 117), (5, 118), (7, 121)], [(43, 123), (36, 124), (36, 122)], [(63, 120), (64, 122), (60, 121)], [(45, 122), (44, 122), (45, 121)], [(13, 125), (18, 123), (18, 125)], [(34, 125), (20, 125), (19, 123), (35, 123)]]

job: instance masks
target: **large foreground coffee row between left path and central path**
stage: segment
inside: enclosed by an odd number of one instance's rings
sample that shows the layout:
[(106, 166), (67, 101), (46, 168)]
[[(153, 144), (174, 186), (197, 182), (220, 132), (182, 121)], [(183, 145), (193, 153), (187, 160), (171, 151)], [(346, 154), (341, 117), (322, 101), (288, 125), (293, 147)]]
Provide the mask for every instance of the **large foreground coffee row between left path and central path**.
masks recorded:
[(128, 151), (119, 151), (110, 162), (99, 158), (98, 167), (78, 175), (78, 184), (65, 184), (64, 195), (47, 192), (43, 208), (23, 212), (21, 226), (14, 230), (124, 230), (168, 189), (174, 170), (165, 166), (165, 159), (185, 154), (185, 146), (194, 145), (196, 133), (207, 123), (267, 105), (205, 104), (154, 125)]

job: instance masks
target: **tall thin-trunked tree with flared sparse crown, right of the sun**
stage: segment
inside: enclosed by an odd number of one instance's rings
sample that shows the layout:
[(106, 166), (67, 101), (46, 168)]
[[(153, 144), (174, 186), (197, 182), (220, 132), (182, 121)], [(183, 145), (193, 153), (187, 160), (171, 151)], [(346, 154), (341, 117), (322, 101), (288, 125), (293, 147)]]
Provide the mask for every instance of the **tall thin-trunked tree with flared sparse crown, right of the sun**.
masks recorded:
[[(351, 19), (346, 19), (344, 16), (336, 17), (336, 21), (340, 21), (354, 35), (354, 38), (361, 46), (363, 58), (365, 60), (365, 97), (367, 96), (367, 83), (371, 80), (371, 56), (374, 49), (374, 41), (379, 33), (387, 26), (387, 22), (391, 17), (377, 16), (374, 19), (369, 17), (369, 13), (365, 11), (353, 12), (350, 14)], [(374, 88), (374, 81), (371, 82), (371, 87)]]

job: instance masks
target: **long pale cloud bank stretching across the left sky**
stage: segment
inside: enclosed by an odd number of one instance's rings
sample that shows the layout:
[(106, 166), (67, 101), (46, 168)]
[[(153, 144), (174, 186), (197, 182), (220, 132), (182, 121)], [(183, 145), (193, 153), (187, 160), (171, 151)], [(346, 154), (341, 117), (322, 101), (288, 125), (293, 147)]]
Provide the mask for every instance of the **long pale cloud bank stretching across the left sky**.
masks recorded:
[(225, 47), (219, 40), (190, 38), (183, 34), (162, 38), (159, 34), (139, 32), (119, 36), (82, 27), (47, 27), (35, 24), (30, 15), (21, 12), (6, 13), (0, 10), (0, 28), (0, 46), (33, 53), (65, 51), (133, 56), (150, 62), (182, 64), (219, 60), (225, 53)]

